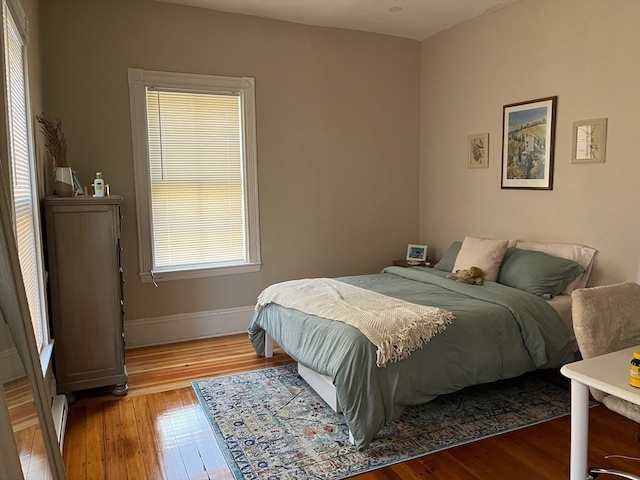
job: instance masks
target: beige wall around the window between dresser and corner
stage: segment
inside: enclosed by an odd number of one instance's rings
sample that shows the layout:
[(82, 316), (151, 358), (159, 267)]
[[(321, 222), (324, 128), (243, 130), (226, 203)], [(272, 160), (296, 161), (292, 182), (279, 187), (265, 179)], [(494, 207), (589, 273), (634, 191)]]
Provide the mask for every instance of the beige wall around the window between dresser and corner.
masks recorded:
[[(419, 42), (149, 0), (40, 5), (46, 113), (80, 180), (100, 170), (125, 198), (126, 319), (377, 272), (417, 241)], [(140, 283), (127, 67), (256, 78), (260, 273)]]

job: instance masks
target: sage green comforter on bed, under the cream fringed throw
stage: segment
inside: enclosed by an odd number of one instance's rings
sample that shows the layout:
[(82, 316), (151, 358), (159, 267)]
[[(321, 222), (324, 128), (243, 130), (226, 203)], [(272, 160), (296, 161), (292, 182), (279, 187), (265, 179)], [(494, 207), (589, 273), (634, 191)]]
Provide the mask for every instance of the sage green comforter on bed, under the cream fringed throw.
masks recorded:
[(408, 405), (464, 387), (559, 367), (573, 352), (561, 320), (534, 295), (495, 282), (467, 285), (427, 268), (387, 267), (339, 280), (455, 314), (447, 329), (405, 360), (376, 366), (375, 347), (354, 327), (270, 304), (249, 338), (264, 355), (265, 331), (292, 358), (332, 377), (359, 449)]

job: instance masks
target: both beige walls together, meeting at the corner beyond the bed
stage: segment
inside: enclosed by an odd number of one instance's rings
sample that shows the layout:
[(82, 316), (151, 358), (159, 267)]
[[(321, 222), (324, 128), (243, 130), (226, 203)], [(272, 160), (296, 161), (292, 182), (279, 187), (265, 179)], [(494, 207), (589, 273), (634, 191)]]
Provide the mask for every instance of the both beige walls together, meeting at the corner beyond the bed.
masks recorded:
[[(125, 197), (128, 320), (252, 305), (273, 282), (376, 272), (407, 243), (440, 256), (465, 235), (582, 243), (592, 284), (637, 277), (635, 0), (522, 0), (422, 44), (151, 0), (40, 6), (46, 113), (81, 181), (101, 170)], [(138, 280), (127, 67), (256, 77), (260, 273)], [(501, 190), (502, 106), (552, 95), (554, 189)], [(601, 117), (607, 162), (572, 165), (573, 122)], [(489, 168), (470, 170), (481, 132)]]

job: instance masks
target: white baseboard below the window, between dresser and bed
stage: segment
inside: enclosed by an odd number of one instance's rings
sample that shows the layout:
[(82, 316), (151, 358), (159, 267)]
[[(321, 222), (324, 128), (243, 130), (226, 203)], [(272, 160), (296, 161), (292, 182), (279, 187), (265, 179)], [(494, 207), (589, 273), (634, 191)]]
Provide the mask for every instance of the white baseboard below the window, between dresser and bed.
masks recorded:
[(162, 345), (246, 332), (254, 307), (125, 320), (126, 348)]

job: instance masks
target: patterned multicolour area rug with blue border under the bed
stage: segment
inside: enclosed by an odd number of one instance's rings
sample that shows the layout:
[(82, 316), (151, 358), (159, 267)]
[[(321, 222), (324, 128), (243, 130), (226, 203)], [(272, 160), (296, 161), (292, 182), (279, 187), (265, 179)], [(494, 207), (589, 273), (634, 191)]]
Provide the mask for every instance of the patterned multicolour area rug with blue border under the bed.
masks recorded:
[(534, 375), (442, 395), (405, 410), (362, 452), (296, 365), (193, 382), (237, 480), (358, 475), (566, 415), (568, 390)]

